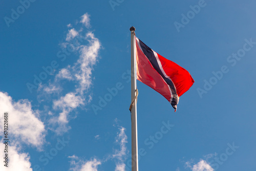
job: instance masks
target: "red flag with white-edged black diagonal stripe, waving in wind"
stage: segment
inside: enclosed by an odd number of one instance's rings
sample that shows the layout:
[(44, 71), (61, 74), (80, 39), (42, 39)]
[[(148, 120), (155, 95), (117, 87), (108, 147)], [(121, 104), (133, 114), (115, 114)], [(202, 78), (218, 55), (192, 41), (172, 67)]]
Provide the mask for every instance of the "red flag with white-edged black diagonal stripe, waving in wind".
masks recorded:
[(159, 55), (140, 39), (136, 41), (137, 79), (163, 95), (175, 112), (179, 97), (195, 82), (189, 72)]

